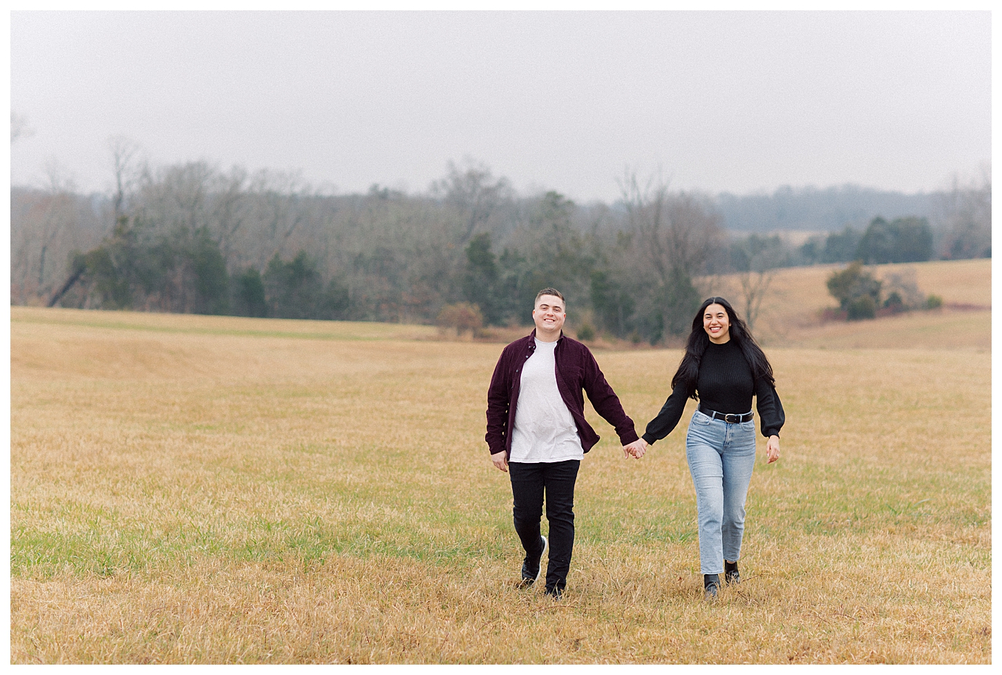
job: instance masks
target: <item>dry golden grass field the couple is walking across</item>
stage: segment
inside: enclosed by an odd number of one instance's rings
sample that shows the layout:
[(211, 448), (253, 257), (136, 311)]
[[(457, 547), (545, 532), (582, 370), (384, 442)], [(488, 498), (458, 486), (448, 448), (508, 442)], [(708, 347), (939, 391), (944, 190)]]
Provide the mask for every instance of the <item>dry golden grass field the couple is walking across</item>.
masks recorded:
[[(743, 581), (714, 603), (683, 430), (627, 461), (589, 409), (554, 603), (516, 587), (483, 442), (501, 345), (12, 307), (12, 661), (989, 663), (990, 327), (900, 318), (864, 323), (907, 349), (769, 349), (783, 458), (756, 466)], [(638, 427), (679, 356), (596, 352)]]

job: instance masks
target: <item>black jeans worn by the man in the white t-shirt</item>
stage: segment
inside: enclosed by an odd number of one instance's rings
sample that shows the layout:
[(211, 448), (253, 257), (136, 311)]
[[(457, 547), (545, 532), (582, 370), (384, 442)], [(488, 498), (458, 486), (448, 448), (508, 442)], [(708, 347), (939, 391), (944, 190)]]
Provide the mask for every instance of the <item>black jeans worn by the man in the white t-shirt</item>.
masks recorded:
[(543, 494), (546, 495), (546, 520), (550, 524), (550, 560), (546, 567), (548, 590), (558, 588), (562, 591), (567, 585), (570, 552), (574, 547), (574, 482), (580, 466), (580, 460), (512, 462), (508, 465), (515, 532), (527, 556), (541, 553), (539, 520), (543, 515)]

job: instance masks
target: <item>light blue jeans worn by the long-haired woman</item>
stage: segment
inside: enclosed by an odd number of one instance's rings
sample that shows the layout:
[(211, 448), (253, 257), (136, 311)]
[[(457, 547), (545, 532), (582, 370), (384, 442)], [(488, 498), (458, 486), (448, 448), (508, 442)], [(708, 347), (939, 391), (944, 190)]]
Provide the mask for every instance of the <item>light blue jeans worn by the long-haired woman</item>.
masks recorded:
[(699, 567), (722, 574), (736, 562), (744, 535), (744, 498), (755, 467), (755, 420), (727, 424), (696, 411), (685, 436), (699, 519)]

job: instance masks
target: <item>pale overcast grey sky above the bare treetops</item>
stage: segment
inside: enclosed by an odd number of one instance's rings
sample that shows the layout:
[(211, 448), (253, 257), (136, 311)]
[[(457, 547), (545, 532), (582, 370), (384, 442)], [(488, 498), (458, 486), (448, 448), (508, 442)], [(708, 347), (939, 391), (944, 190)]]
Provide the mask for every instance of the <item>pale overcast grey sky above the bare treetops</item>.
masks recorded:
[(424, 190), (469, 155), (516, 188), (611, 200), (626, 165), (675, 187), (905, 191), (991, 157), (988, 12), (14, 12), (11, 107), (110, 186), (111, 135), (152, 164), (300, 170)]

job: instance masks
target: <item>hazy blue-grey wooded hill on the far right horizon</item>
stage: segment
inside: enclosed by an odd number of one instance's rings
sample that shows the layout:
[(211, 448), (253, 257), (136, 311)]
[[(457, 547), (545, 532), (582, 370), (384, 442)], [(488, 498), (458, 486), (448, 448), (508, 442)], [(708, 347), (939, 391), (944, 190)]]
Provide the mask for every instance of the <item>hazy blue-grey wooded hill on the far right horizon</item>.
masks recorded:
[(917, 215), (931, 217), (937, 192), (904, 194), (857, 185), (793, 188), (784, 186), (773, 194), (716, 197), (727, 229), (745, 232), (777, 230), (835, 231), (846, 225), (865, 229), (877, 215), (888, 219)]

